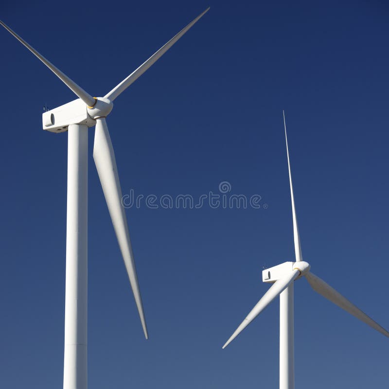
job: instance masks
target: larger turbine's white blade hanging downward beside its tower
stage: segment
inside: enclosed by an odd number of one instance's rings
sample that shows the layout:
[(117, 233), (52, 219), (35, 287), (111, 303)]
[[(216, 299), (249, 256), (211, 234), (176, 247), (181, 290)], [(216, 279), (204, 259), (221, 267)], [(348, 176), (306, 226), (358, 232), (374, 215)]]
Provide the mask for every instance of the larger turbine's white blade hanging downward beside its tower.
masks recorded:
[(94, 136), (93, 159), (97, 167), (101, 186), (106, 197), (109, 214), (113, 228), (118, 238), (120, 251), (122, 252), (124, 265), (134, 293), (139, 316), (143, 327), (144, 336), (148, 339), (146, 320), (143, 313), (141, 292), (139, 290), (138, 277), (135, 269), (134, 256), (131, 248), (127, 219), (122, 205), (122, 190), (116, 167), (115, 154), (112, 148), (111, 138), (105, 118), (96, 119), (96, 132)]

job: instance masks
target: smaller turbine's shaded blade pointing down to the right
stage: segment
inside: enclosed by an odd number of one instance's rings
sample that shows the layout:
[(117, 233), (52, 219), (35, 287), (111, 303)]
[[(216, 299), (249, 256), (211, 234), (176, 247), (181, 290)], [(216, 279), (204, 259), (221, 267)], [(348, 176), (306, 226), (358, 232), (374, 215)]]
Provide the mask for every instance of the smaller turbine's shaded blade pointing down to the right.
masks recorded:
[(346, 312), (355, 316), (359, 320), (362, 320), (364, 323), (370, 325), (374, 330), (377, 330), (381, 334), (389, 337), (389, 332), (382, 328), (378, 323), (376, 323), (372, 318), (369, 318), (365, 313), (363, 313), (359, 308), (357, 308), (353, 303), (348, 301), (343, 297), (339, 292), (337, 292), (333, 287), (328, 283), (325, 283), (323, 280), (315, 276), (315, 274), (307, 273), (305, 277), (308, 280), (308, 283), (312, 286), (312, 289), (318, 292), (321, 296), (325, 297), (327, 300), (333, 302), (338, 307), (344, 309)]

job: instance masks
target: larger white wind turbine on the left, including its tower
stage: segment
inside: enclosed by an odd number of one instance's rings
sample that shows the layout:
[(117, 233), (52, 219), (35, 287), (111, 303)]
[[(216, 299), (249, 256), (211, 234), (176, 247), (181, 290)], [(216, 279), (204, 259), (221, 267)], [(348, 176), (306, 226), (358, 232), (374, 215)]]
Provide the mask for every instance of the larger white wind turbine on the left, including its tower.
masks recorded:
[(35, 56), (79, 97), (77, 100), (71, 101), (68, 104), (46, 111), (42, 115), (44, 130), (54, 133), (68, 131), (69, 133), (64, 389), (86, 389), (88, 386), (88, 128), (96, 126), (93, 159), (122, 252), (124, 265), (141, 318), (144, 336), (147, 339), (148, 334), (141, 293), (131, 248), (127, 219), (121, 203), (122, 190), (116, 167), (115, 154), (106, 124), (106, 116), (112, 110), (113, 101), (166, 53), (208, 10), (209, 8), (184, 27), (104, 97), (92, 97), (0, 21), (0, 24), (5, 29), (34, 53)]

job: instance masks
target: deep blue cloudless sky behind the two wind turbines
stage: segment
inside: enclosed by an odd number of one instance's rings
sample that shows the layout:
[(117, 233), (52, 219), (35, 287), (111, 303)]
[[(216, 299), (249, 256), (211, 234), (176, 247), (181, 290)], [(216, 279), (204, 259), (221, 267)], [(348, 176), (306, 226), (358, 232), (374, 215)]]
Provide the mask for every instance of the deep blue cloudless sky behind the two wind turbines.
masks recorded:
[[(145, 341), (89, 137), (89, 388), (278, 388), (279, 303), (224, 351), (293, 260), (283, 139), (304, 259), (389, 327), (389, 7), (384, 1), (48, 1), (1, 18), (104, 95), (210, 12), (127, 89), (108, 118), (124, 193), (259, 194), (268, 209), (127, 211)], [(0, 386), (60, 388), (67, 134), (41, 111), (75, 96), (5, 30), (1, 45)], [(389, 339), (295, 287), (296, 387), (384, 388)]]

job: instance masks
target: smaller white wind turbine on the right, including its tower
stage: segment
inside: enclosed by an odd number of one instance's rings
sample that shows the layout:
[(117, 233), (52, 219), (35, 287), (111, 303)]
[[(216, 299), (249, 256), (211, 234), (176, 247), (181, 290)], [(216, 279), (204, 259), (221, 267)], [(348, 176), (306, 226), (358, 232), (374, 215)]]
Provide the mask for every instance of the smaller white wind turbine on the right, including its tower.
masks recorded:
[(362, 320), (381, 334), (389, 337), (389, 332), (382, 328), (373, 319), (369, 318), (352, 302), (344, 298), (339, 292), (328, 283), (315, 276), (311, 271), (311, 266), (302, 260), (299, 228), (297, 225), (295, 200), (293, 195), (292, 176), (290, 173), (288, 139), (286, 136), (285, 114), (283, 112), (283, 125), (285, 128), (286, 154), (288, 158), (290, 196), (292, 199), (293, 215), (293, 237), (295, 246), (296, 262), (284, 262), (281, 265), (265, 269), (262, 272), (264, 283), (273, 283), (265, 295), (254, 306), (247, 317), (239, 325), (236, 331), (230, 336), (223, 349), (238, 336), (241, 331), (256, 318), (271, 301), (280, 295), (280, 389), (294, 389), (294, 282), (305, 276), (312, 289), (318, 292), (329, 301), (344, 309), (359, 320)]

